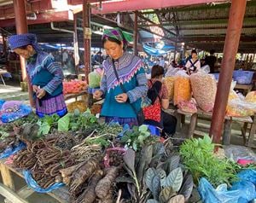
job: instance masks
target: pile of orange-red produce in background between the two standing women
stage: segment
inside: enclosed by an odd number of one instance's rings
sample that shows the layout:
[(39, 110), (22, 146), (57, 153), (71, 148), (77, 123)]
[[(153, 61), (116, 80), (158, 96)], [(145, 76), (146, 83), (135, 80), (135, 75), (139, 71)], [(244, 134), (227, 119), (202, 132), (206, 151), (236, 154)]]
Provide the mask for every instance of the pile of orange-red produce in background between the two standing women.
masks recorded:
[(63, 94), (75, 94), (87, 89), (87, 84), (82, 80), (72, 80), (63, 82)]

